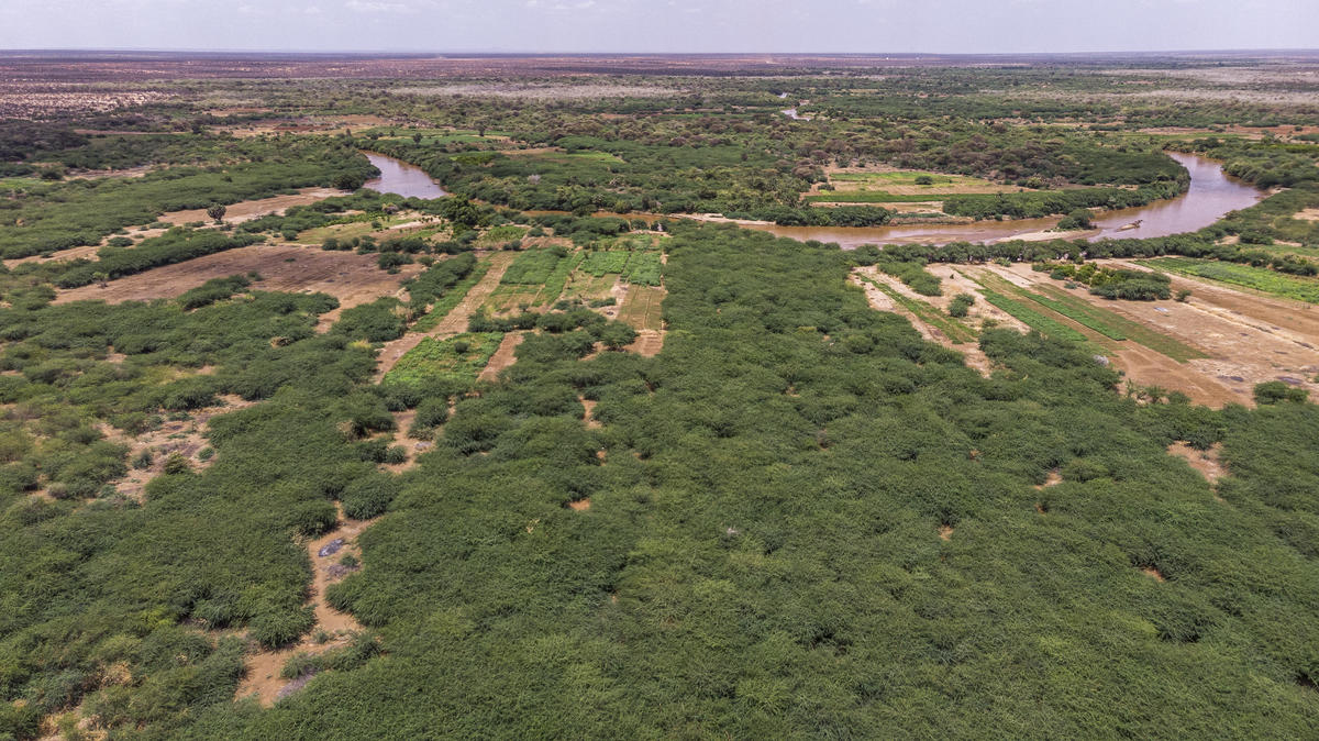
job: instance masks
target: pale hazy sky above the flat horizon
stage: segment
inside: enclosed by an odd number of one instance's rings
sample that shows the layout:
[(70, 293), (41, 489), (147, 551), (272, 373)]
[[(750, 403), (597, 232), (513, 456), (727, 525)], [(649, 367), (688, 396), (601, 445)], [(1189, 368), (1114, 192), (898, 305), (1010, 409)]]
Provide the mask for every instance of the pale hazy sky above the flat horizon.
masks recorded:
[(0, 0), (0, 49), (1319, 49), (1319, 0)]

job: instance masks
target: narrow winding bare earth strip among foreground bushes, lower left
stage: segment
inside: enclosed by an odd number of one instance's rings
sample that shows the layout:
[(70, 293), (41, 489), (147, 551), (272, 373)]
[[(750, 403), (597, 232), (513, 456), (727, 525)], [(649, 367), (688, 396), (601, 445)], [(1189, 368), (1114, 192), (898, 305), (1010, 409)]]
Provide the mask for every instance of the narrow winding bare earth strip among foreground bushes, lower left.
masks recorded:
[[(257, 650), (248, 654), (244, 665), (243, 682), (239, 683), (236, 697), (256, 696), (262, 705), (270, 705), (276, 700), (286, 696), (290, 691), (306, 684), (306, 679), (286, 680), (280, 676), (285, 662), (297, 653), (319, 654), (330, 649), (343, 646), (352, 634), (361, 630), (361, 625), (347, 613), (342, 613), (326, 601), (326, 588), (342, 580), (353, 570), (339, 563), (348, 554), (361, 558), (356, 538), (367, 527), (375, 525), (376, 519), (348, 519), (339, 510), (339, 522), (328, 533), (309, 541), (307, 558), (311, 559), (311, 596), (310, 604), (315, 610), (317, 624), (302, 641), (277, 650)], [(324, 554), (324, 555), (322, 555)], [(328, 641), (317, 643), (314, 637), (318, 632), (331, 636)]]

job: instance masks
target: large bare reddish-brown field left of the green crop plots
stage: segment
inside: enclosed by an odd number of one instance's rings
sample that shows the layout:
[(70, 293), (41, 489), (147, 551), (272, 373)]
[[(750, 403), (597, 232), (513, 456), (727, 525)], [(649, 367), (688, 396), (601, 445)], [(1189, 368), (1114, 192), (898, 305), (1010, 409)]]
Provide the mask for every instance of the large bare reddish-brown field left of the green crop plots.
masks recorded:
[(322, 316), (322, 324), (332, 323), (340, 311), (372, 302), (381, 295), (400, 290), (406, 278), (415, 276), (421, 265), (404, 265), (390, 276), (376, 266), (371, 254), (352, 252), (326, 252), (294, 245), (251, 245), (206, 254), (186, 262), (162, 265), (145, 273), (98, 285), (62, 290), (55, 303), (71, 301), (149, 301), (174, 298), (211, 278), (259, 273), (253, 290), (289, 293), (327, 293), (339, 299), (339, 309)]

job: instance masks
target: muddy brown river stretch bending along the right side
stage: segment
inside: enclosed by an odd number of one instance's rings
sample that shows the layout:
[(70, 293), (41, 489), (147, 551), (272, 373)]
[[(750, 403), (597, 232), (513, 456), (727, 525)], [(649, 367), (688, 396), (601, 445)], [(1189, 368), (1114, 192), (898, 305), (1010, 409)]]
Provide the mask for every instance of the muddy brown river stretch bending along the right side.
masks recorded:
[[(1087, 239), (1149, 239), (1194, 232), (1217, 222), (1228, 211), (1254, 206), (1265, 196), (1264, 191), (1225, 175), (1223, 166), (1212, 160), (1175, 152), (1170, 152), (1169, 156), (1191, 174), (1190, 190), (1177, 198), (1149, 206), (1105, 211), (1095, 220), (1099, 231), (1086, 235)], [(1122, 228), (1136, 222), (1140, 222), (1138, 227)], [(1058, 218), (894, 227), (780, 227), (777, 224), (745, 224), (745, 227), (803, 241), (834, 241), (844, 249), (855, 249), (863, 244), (993, 243), (1051, 229), (1057, 224)]]

